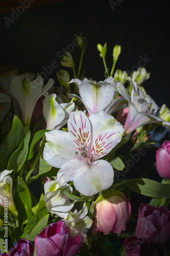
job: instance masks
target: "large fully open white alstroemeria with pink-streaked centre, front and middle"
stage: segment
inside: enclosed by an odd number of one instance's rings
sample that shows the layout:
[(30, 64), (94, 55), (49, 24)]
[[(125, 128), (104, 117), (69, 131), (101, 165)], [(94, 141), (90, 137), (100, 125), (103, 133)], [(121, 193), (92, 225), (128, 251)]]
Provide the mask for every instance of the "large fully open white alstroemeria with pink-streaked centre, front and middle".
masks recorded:
[(60, 186), (74, 181), (80, 193), (93, 196), (113, 183), (113, 167), (99, 159), (118, 144), (123, 133), (123, 125), (105, 111), (87, 118), (77, 110), (69, 116), (68, 132), (45, 133), (43, 158), (60, 168), (57, 174)]

